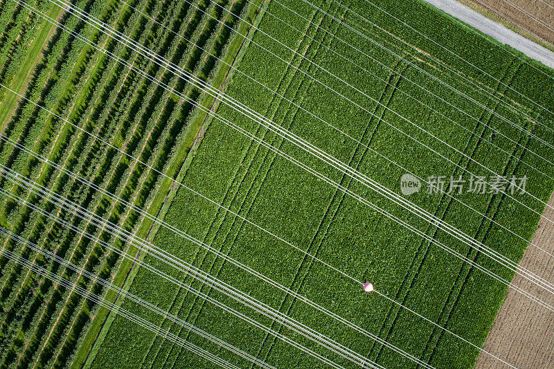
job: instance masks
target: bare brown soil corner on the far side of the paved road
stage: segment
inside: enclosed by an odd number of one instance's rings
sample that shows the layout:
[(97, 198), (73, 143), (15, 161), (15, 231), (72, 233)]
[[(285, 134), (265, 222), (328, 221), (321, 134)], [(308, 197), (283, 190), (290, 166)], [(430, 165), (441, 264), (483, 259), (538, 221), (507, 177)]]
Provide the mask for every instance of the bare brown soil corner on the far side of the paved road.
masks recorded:
[(458, 1), (535, 42), (554, 47), (554, 0)]

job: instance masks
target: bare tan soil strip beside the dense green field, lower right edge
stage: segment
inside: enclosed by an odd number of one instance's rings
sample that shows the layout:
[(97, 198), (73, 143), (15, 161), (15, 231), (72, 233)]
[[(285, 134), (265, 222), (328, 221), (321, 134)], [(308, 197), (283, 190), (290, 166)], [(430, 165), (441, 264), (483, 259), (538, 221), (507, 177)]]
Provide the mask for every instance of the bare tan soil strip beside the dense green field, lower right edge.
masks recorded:
[[(548, 204), (554, 205), (554, 194)], [(546, 208), (544, 217), (554, 219), (554, 209)], [(531, 242), (548, 253), (554, 253), (553, 237), (554, 224), (542, 218)], [(545, 280), (554, 280), (554, 258), (535, 246), (528, 246), (519, 264)], [(532, 285), (521, 276), (516, 275), (512, 283), (537, 296), (548, 305), (554, 305), (552, 294)], [(519, 369), (554, 368), (553, 333), (554, 312), (510, 288), (483, 349)], [(481, 352), (475, 368), (507, 368), (507, 366)]]

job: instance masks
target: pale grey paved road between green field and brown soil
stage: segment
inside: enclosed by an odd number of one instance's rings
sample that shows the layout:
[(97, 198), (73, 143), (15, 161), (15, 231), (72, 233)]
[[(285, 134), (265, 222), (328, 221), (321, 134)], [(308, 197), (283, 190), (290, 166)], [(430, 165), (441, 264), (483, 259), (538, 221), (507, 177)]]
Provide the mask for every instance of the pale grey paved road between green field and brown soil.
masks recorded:
[(494, 37), (502, 44), (508, 44), (512, 48), (516, 48), (528, 57), (535, 59), (546, 66), (554, 69), (554, 53), (547, 48), (536, 44), (514, 31), (498, 24), (491, 19), (488, 19), (479, 12), (469, 8), (456, 0), (424, 0), (436, 8), (447, 12), (461, 21), (481, 30), (481, 32)]

